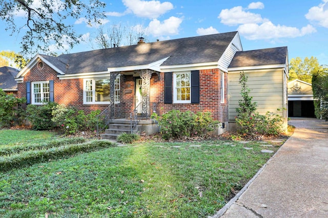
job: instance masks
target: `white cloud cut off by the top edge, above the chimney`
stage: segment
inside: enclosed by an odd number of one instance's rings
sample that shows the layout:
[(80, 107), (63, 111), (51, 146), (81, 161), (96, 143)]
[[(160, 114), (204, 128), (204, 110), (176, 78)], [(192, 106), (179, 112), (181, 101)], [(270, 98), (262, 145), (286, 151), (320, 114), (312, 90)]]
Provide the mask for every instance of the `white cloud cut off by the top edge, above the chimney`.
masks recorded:
[(138, 17), (157, 18), (173, 9), (170, 2), (122, 0), (123, 4)]

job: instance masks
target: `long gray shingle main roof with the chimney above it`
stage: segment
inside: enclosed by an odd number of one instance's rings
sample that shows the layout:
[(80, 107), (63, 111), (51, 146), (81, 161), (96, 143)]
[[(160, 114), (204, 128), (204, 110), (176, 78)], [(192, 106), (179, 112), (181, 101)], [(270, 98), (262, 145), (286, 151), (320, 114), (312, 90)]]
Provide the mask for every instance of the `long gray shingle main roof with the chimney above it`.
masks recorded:
[(219, 33), (45, 58), (65, 74), (104, 72), (107, 68), (144, 65), (167, 57), (170, 58), (162, 66), (214, 62), (236, 34)]

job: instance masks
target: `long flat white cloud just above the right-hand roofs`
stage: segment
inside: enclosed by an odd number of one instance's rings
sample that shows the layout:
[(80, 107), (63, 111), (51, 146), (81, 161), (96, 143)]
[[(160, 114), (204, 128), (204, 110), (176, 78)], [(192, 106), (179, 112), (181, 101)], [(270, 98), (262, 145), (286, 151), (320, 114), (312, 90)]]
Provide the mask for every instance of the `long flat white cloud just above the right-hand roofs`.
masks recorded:
[(284, 25), (274, 25), (271, 21), (258, 24), (243, 24), (237, 29), (239, 33), (247, 39), (275, 39), (275, 38), (295, 38), (306, 34), (316, 32), (316, 29), (311, 25), (303, 27), (299, 30), (296, 27), (287, 27)]

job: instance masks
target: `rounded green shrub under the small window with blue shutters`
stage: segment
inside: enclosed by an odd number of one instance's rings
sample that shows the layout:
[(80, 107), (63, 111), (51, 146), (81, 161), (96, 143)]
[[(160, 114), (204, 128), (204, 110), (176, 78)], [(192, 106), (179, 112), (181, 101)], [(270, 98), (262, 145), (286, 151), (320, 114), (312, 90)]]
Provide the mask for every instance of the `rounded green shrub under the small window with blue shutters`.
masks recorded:
[(47, 102), (43, 105), (27, 105), (27, 118), (32, 124), (34, 130), (49, 130), (55, 125), (52, 119), (52, 111), (57, 103)]

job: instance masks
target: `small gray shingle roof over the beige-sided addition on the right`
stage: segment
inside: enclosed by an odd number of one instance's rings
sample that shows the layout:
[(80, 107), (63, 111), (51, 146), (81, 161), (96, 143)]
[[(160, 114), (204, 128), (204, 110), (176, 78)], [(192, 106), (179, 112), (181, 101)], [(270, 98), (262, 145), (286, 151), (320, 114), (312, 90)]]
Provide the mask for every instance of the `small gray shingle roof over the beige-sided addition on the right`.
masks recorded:
[(229, 68), (284, 64), (287, 53), (287, 47), (236, 52)]

